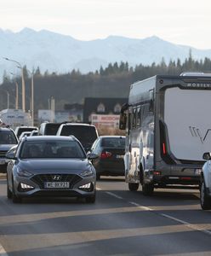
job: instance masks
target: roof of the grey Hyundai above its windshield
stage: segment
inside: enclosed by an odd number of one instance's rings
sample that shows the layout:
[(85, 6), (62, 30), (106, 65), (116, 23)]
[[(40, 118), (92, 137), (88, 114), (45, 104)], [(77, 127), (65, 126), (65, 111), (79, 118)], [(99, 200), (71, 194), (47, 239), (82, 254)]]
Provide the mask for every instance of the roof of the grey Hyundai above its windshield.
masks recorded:
[(56, 135), (41, 135), (25, 137), (26, 141), (77, 141), (76, 137), (73, 136), (56, 136)]

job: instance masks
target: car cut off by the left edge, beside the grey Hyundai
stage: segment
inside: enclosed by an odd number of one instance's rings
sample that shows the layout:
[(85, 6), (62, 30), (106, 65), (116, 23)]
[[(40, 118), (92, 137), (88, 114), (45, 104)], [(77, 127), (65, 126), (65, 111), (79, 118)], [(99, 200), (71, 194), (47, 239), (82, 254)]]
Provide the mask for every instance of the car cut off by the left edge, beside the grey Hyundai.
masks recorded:
[(8, 160), (5, 154), (10, 148), (18, 144), (14, 131), (10, 128), (0, 127), (0, 172), (6, 172)]

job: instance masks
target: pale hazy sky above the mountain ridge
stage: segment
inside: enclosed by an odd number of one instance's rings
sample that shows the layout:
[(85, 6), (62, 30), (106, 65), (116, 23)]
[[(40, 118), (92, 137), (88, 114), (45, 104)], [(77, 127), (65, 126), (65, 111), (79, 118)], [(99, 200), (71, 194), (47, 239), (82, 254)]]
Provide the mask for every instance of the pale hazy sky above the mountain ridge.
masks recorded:
[(156, 35), (211, 49), (211, 0), (0, 0), (0, 27), (47, 29), (92, 40)]

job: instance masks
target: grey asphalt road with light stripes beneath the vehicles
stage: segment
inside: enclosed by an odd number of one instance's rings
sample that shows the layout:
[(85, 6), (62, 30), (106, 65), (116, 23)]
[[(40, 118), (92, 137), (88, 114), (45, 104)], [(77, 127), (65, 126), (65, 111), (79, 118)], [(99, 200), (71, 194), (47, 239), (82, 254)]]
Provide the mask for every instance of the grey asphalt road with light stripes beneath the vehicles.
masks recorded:
[[(211, 255), (211, 211), (197, 190), (128, 191), (122, 177), (98, 184), (95, 204), (64, 198), (13, 204), (0, 179), (0, 256)], [(6, 254), (7, 253), (7, 254)]]

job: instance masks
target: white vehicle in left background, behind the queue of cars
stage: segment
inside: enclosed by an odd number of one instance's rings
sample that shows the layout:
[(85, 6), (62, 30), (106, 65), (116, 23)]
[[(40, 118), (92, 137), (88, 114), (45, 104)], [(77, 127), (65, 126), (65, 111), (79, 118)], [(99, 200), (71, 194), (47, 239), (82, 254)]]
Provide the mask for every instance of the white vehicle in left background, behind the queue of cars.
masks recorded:
[(0, 111), (0, 119), (3, 125), (9, 125), (12, 129), (20, 125), (30, 126), (31, 115), (21, 109), (3, 109)]

